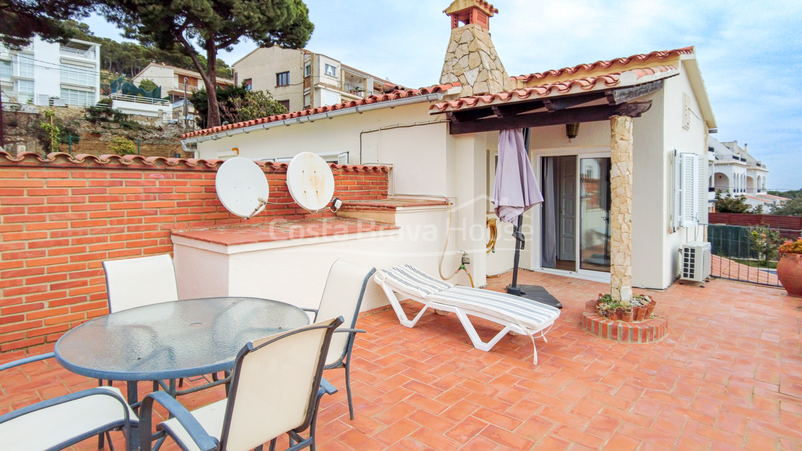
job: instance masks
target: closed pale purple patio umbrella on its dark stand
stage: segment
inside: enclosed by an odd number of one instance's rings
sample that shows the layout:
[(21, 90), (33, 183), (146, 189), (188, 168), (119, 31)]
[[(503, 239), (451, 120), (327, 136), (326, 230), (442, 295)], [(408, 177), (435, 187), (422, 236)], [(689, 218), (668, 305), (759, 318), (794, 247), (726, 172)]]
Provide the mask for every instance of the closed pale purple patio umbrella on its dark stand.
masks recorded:
[(512, 284), (507, 286), (510, 295), (523, 296), (553, 307), (562, 308), (542, 286), (518, 286), (518, 262), (520, 250), (525, 246), (524, 234), (520, 231), (524, 212), (543, 201), (541, 190), (529, 162), (529, 128), (501, 130), (499, 132), (499, 160), (496, 166), (496, 181), (491, 201), (501, 221), (514, 224), (512, 236), (516, 239), (515, 259), (512, 266)]

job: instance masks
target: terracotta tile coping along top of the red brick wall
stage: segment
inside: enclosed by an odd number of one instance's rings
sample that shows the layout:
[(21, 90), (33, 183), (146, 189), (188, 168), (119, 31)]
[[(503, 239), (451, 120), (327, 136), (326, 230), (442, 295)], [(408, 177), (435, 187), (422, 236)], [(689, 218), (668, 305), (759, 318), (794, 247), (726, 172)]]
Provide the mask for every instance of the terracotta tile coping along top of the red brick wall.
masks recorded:
[[(8, 166), (52, 166), (58, 167), (101, 167), (107, 169), (203, 169), (217, 170), (225, 160), (204, 160), (202, 158), (165, 158), (164, 156), (141, 155), (91, 155), (79, 153), (72, 156), (64, 152), (51, 152), (43, 157), (36, 152), (20, 152), (16, 156), (0, 151), (0, 167)], [(255, 161), (262, 168), (273, 171), (286, 171), (287, 163)], [(353, 173), (387, 173), (389, 168), (381, 165), (338, 165), (330, 164), (332, 170)]]

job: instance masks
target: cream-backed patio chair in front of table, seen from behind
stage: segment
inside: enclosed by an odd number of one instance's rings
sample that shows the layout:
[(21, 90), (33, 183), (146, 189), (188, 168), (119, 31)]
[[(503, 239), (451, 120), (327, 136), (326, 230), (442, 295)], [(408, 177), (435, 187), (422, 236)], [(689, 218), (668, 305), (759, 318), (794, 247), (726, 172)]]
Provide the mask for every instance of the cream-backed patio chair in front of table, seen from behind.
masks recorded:
[[(326, 319), (247, 343), (237, 355), (229, 395), (192, 412), (165, 392), (142, 400), (140, 451), (151, 451), (153, 402), (173, 418), (156, 425), (184, 451), (245, 451), (261, 449), (287, 433), (295, 451), (314, 449), (314, 423), (320, 396), (333, 390), (324, 383), (323, 366), (331, 335), (342, 317)], [(310, 437), (299, 434), (310, 429)]]

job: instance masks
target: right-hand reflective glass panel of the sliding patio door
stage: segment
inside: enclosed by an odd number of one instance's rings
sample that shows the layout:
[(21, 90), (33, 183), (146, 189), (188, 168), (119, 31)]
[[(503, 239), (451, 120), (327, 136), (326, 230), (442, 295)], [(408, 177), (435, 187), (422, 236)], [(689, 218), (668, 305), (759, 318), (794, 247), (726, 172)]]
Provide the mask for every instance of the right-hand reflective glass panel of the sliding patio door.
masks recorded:
[(579, 160), (579, 269), (610, 272), (610, 158)]

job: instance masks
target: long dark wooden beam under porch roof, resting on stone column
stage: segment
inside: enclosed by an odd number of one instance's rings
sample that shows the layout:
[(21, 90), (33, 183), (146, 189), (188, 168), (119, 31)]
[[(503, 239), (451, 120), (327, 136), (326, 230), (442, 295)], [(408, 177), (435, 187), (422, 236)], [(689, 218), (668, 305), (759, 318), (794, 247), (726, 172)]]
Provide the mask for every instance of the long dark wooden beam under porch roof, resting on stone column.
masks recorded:
[(449, 133), (494, 132), (512, 128), (545, 127), (548, 125), (573, 124), (609, 120), (612, 116), (639, 117), (651, 108), (651, 100), (620, 105), (593, 105), (591, 107), (566, 108), (554, 112), (535, 112), (509, 117), (490, 117), (468, 122), (452, 122)]

